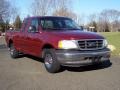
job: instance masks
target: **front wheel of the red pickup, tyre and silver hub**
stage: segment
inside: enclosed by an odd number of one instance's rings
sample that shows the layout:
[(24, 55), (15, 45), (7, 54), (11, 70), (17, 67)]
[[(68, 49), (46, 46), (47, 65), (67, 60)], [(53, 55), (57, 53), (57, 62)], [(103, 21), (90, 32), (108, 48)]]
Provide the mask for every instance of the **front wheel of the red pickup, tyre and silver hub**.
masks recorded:
[(56, 73), (60, 70), (60, 64), (57, 61), (55, 51), (53, 49), (43, 50), (44, 65), (48, 72)]

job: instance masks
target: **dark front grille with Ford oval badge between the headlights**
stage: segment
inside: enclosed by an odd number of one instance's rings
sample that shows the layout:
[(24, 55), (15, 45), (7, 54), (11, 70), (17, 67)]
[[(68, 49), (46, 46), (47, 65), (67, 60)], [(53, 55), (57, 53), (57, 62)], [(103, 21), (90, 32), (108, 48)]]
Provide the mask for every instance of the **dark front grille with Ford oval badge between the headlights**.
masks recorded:
[(78, 45), (81, 50), (97, 50), (103, 48), (103, 40), (79, 40)]

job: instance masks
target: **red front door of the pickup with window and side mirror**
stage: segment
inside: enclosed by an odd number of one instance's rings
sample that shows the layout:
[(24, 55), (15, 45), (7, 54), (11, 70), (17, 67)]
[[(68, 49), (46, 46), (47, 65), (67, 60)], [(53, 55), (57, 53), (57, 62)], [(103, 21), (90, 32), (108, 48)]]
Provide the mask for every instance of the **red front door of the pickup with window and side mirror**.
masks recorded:
[(40, 52), (39, 24), (37, 18), (32, 18), (30, 26), (26, 30), (26, 48), (28, 54), (37, 56)]

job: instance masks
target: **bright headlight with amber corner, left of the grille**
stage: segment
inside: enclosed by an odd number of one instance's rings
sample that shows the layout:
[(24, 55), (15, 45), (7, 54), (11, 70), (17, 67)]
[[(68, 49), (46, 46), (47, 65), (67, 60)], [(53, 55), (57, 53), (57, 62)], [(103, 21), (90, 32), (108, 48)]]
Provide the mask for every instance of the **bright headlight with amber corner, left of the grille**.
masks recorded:
[(77, 49), (77, 45), (74, 40), (61, 40), (58, 42), (58, 48), (60, 49)]

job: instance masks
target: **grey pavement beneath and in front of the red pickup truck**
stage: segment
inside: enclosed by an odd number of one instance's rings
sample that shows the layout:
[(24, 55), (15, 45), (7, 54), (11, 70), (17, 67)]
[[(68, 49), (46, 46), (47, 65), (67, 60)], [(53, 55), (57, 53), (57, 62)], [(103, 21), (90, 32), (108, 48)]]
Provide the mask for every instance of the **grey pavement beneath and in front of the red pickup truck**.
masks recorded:
[(120, 90), (120, 58), (50, 74), (38, 58), (12, 59), (0, 37), (0, 90)]

